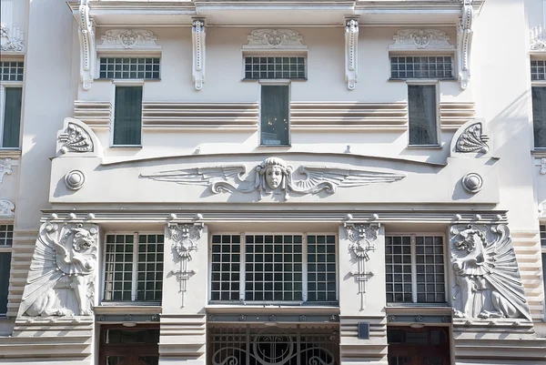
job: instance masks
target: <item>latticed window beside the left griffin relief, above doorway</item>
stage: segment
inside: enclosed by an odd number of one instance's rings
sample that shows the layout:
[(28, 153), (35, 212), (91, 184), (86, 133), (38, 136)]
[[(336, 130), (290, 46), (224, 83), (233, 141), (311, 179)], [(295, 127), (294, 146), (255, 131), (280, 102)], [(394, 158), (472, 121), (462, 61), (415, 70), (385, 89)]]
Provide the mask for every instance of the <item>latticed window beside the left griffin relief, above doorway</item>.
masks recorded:
[(106, 235), (106, 301), (160, 301), (163, 235)]

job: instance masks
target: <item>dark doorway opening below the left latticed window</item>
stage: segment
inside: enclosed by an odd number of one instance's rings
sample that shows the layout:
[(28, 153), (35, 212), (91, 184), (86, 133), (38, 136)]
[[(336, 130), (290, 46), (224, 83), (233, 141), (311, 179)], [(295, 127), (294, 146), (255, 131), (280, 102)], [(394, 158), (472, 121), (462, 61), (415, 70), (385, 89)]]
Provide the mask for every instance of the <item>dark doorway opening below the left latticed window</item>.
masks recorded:
[(99, 365), (157, 365), (159, 362), (159, 328), (139, 324), (100, 329)]

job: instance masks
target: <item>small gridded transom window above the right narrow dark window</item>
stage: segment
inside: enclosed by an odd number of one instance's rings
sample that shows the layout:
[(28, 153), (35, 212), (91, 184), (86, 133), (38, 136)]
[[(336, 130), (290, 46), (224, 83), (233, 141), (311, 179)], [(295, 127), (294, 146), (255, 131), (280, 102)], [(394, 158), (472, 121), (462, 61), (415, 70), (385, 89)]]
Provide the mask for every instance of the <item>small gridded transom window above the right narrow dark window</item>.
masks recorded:
[(390, 57), (390, 78), (453, 78), (451, 56)]

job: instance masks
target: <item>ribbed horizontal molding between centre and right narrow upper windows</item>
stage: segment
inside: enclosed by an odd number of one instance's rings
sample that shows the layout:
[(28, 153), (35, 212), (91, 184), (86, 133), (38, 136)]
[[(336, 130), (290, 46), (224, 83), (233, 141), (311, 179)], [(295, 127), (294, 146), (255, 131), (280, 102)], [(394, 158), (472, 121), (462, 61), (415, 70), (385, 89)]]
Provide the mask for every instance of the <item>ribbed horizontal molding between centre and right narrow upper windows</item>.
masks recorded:
[(397, 103), (291, 102), (290, 130), (407, 129), (408, 105)]

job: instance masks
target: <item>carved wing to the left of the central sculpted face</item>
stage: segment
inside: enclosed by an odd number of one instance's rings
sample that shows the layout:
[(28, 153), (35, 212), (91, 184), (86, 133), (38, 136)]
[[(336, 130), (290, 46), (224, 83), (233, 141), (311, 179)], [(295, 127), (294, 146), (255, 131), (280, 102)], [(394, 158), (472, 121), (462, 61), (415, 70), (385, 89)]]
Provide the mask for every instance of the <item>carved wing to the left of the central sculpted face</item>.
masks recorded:
[(187, 185), (210, 185), (212, 180), (227, 181), (233, 178), (241, 178), (245, 173), (244, 166), (224, 167), (195, 167), (179, 170), (160, 171), (157, 174), (141, 174), (141, 177), (151, 178), (157, 181), (170, 181)]

